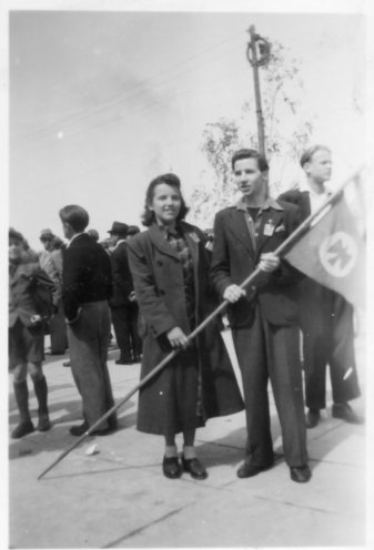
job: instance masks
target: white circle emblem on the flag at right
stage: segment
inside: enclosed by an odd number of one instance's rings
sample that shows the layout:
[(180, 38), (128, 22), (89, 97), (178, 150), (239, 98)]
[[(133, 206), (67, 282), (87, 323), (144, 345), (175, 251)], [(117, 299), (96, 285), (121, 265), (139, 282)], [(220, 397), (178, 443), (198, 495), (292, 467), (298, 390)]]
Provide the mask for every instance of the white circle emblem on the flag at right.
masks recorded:
[(334, 277), (346, 277), (356, 265), (358, 255), (354, 238), (344, 231), (324, 238), (319, 253), (323, 267)]

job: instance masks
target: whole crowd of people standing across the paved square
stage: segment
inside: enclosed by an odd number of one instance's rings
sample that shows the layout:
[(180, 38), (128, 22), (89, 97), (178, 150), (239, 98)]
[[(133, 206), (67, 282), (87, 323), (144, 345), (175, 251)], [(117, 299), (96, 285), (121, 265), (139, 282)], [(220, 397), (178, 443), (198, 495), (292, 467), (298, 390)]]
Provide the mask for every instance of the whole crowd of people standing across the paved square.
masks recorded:
[[(360, 396), (353, 307), (274, 253), (328, 196), (330, 149), (310, 147), (301, 165), (304, 186), (275, 200), (267, 191), (266, 160), (254, 150), (235, 152), (232, 171), (241, 197), (218, 212), (214, 228), (204, 232), (185, 222), (181, 182), (171, 173), (152, 180), (146, 190), (143, 232), (113, 222), (109, 241), (100, 243), (98, 232), (87, 230), (88, 212), (69, 205), (59, 212), (68, 244), (43, 230), (44, 251), (38, 256), (19, 232), (9, 230), (9, 363), (20, 414), (11, 436), (34, 430), (28, 371), (39, 403), (38, 429), (51, 427), (42, 371), (46, 330), (52, 354), (69, 347), (82, 399), (82, 422), (70, 434), (83, 435), (113, 407), (107, 365), (112, 324), (120, 349), (115, 363), (141, 361), (141, 378), (171, 350), (179, 352), (142, 387), (138, 404), (138, 429), (163, 436), (165, 477), (176, 479), (185, 471), (205, 479), (194, 445), (196, 428), (209, 418), (241, 410), (246, 445), (237, 476), (249, 478), (271, 468), (270, 380), (291, 479), (309, 481), (306, 429), (320, 422), (321, 409), (326, 408), (327, 366), (332, 416), (351, 424), (362, 424), (363, 418), (348, 404)], [(242, 288), (255, 271), (253, 284)], [(229, 303), (244, 401), (219, 334), (221, 317), (189, 338), (222, 299)], [(108, 435), (117, 425), (112, 412), (94, 435)], [(181, 455), (176, 434), (183, 435)]]

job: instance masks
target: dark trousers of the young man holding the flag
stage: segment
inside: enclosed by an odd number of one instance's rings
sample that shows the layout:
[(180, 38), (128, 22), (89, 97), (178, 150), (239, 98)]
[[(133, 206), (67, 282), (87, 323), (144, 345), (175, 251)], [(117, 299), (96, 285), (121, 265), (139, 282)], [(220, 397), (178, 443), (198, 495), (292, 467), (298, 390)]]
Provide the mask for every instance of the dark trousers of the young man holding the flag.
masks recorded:
[(283, 450), (290, 467), (307, 462), (303, 383), (297, 326), (273, 326), (262, 318), (259, 306), (250, 327), (234, 328), (233, 339), (242, 370), (250, 464), (273, 464), (269, 410), (270, 379), (281, 422)]

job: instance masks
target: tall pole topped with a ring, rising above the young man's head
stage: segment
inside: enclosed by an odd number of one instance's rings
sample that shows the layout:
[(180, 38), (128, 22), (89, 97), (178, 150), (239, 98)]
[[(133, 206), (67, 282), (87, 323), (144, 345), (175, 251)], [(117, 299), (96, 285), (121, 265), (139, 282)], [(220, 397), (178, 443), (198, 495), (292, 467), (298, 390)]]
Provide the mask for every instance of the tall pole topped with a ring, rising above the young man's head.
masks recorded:
[(259, 67), (267, 63), (270, 58), (270, 42), (255, 33), (254, 26), (249, 28), (251, 41), (247, 43), (246, 57), (253, 69), (254, 96), (256, 103), (259, 152), (265, 156), (265, 124), (261, 106)]

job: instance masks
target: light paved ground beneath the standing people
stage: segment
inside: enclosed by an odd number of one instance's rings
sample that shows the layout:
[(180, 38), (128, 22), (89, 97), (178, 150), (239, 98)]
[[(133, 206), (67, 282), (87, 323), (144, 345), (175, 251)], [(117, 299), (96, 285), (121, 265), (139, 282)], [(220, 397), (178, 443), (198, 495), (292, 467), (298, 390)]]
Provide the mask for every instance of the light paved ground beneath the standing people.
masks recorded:
[[(139, 365), (109, 368), (115, 398), (137, 384)], [(137, 399), (120, 411), (120, 429), (89, 438), (42, 480), (37, 477), (73, 442), (80, 399), (63, 357), (49, 356), (53, 427), (10, 440), (10, 548), (347, 547), (365, 546), (365, 427), (331, 418), (309, 431), (313, 478), (290, 479), (276, 466), (240, 480), (235, 469), (245, 439), (243, 414), (211, 420), (198, 432), (205, 481), (161, 473), (162, 440), (134, 428)], [(363, 373), (361, 373), (363, 380)], [(10, 388), (10, 429), (18, 415)], [(31, 409), (37, 401), (31, 393)], [(364, 412), (364, 397), (355, 403)], [(274, 448), (282, 452), (272, 405)], [(88, 456), (92, 444), (98, 454)]]

